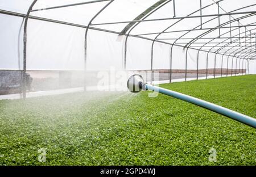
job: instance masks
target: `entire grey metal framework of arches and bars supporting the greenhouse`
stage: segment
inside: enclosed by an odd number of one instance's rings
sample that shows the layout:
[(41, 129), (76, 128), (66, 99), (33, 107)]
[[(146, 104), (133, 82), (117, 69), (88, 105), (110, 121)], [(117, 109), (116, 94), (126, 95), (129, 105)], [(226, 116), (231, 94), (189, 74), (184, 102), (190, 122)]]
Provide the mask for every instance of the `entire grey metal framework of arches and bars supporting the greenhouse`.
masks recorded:
[[(86, 60), (87, 60), (87, 37), (88, 37), (88, 31), (89, 29), (91, 28), (90, 26), (92, 25), (97, 25), (97, 24), (92, 24), (93, 20), (106, 8), (108, 7), (114, 0), (95, 0), (95, 1), (91, 1), (91, 2), (84, 2), (84, 3), (74, 3), (74, 4), (70, 4), (70, 5), (64, 5), (64, 6), (56, 6), (56, 7), (49, 7), (47, 9), (57, 9), (57, 8), (62, 8), (62, 7), (69, 7), (69, 6), (75, 6), (75, 5), (83, 5), (83, 4), (86, 4), (86, 3), (94, 3), (94, 2), (103, 2), (103, 1), (109, 1), (100, 11), (97, 12), (96, 15), (93, 16), (92, 19), (90, 19), (89, 23), (88, 23), (88, 26), (86, 27), (86, 30), (85, 30), (85, 44), (84, 44), (84, 49), (85, 49), (85, 56), (84, 56), (84, 69), (86, 71)], [(159, 10), (161, 7), (163, 7), (164, 5), (167, 5), (168, 3), (170, 3), (171, 1), (174, 2), (174, 0), (168, 0), (166, 2), (162, 2), (159, 4), (159, 6), (156, 6), (155, 9), (151, 9), (150, 12), (148, 12), (148, 14), (144, 15), (142, 20), (134, 20), (134, 21), (131, 21), (133, 22), (133, 24), (131, 24), (131, 28), (129, 29), (129, 32), (127, 33), (119, 33), (121, 35), (126, 35), (126, 39), (125, 39), (125, 59), (124, 59), (124, 68), (126, 69), (126, 61), (127, 61), (127, 40), (128, 40), (128, 37), (129, 36), (133, 36), (133, 37), (139, 37), (137, 35), (130, 35), (131, 31), (138, 26), (139, 23), (141, 22), (144, 22), (144, 21), (151, 21), (146, 19), (148, 16), (150, 16), (151, 14), (153, 14), (155, 11)], [(217, 2), (214, 2), (214, 3), (211, 3), (207, 6), (204, 6), (202, 7), (201, 6), (201, 1), (200, 1), (200, 9), (196, 10), (196, 11), (193, 11), (191, 14), (187, 15), (187, 16), (184, 16), (184, 17), (176, 17), (176, 15), (174, 14), (174, 18), (166, 18), (166, 19), (178, 19), (177, 22), (174, 22), (172, 23), (170, 26), (168, 26), (166, 29), (164, 29), (162, 32), (158, 33), (158, 35), (155, 36), (154, 39), (152, 39), (152, 45), (151, 45), (151, 82), (152, 82), (152, 79), (153, 79), (153, 58), (154, 58), (154, 43), (157, 41), (157, 42), (160, 42), (160, 43), (165, 43), (165, 44), (168, 44), (168, 45), (171, 45), (171, 48), (170, 48), (170, 75), (169, 75), (169, 78), (170, 78), (170, 82), (171, 82), (171, 79), (172, 79), (172, 50), (173, 50), (173, 46), (174, 45), (177, 45), (177, 41), (180, 40), (180, 39), (183, 39), (182, 37), (187, 35), (189, 32), (192, 32), (192, 31), (195, 31), (197, 30), (198, 27), (200, 27), (200, 29), (203, 29), (202, 26), (203, 24), (206, 24), (206, 23), (209, 23), (211, 22), (212, 20), (214, 19), (217, 19), (218, 18), (218, 26), (215, 27), (215, 28), (209, 28), (208, 31), (206, 32), (203, 32), (201, 33), (200, 35), (194, 37), (191, 41), (189, 41), (189, 43), (187, 43), (186, 45), (182, 46), (184, 49), (186, 48), (186, 53), (185, 53), (185, 81), (187, 81), (187, 57), (188, 57), (188, 49), (191, 48), (191, 45), (192, 44), (196, 44), (196, 41), (199, 40), (199, 39), (203, 39), (204, 36), (208, 35), (210, 32), (213, 32), (214, 30), (218, 30), (220, 32), (220, 29), (221, 27), (224, 28), (224, 26), (226, 24), (229, 24), (229, 28), (230, 28), (230, 37), (226, 37), (225, 40), (221, 41), (220, 43), (217, 43), (216, 45), (213, 45), (208, 51), (205, 51), (203, 50), (203, 47), (207, 47), (206, 44), (210, 43), (211, 41), (215, 40), (215, 39), (221, 39), (221, 36), (225, 35), (226, 33), (229, 33), (229, 32), (225, 32), (223, 33), (222, 35), (219, 35), (218, 37), (213, 37), (213, 38), (210, 38), (210, 41), (208, 41), (208, 43), (203, 43), (203, 45), (200, 46), (200, 49), (197, 49), (198, 52), (197, 52), (197, 69), (196, 69), (196, 78), (198, 79), (199, 78), (199, 53), (200, 51), (204, 51), (204, 52), (207, 52), (207, 77), (208, 77), (208, 55), (209, 53), (215, 53), (215, 57), (214, 57), (214, 78), (216, 77), (216, 57), (217, 57), (217, 54), (221, 54), (222, 55), (222, 59), (221, 59), (221, 77), (222, 77), (222, 69), (223, 69), (223, 57), (224, 55), (228, 56), (228, 61), (227, 61), (227, 65), (229, 63), (229, 57), (230, 56), (233, 56), (232, 58), (232, 71), (231, 71), (231, 75), (233, 75), (233, 59), (234, 57), (236, 57), (236, 74), (237, 74), (237, 58), (240, 59), (240, 70), (241, 70), (241, 60), (242, 60), (242, 70), (244, 69), (244, 65), (245, 65), (245, 68), (248, 68), (247, 71), (249, 73), (249, 64), (250, 64), (250, 60), (256, 56), (254, 50), (252, 50), (252, 42), (251, 42), (251, 35), (253, 35), (253, 33), (251, 33), (252, 30), (255, 30), (256, 28), (254, 29), (250, 29), (250, 30), (246, 30), (246, 26), (240, 26), (240, 20), (241, 19), (244, 19), (244, 18), (249, 18), (251, 16), (254, 16), (256, 15), (255, 14), (255, 11), (248, 11), (248, 12), (237, 12), (238, 10), (242, 10), (242, 9), (246, 9), (248, 7), (252, 7), (252, 6), (256, 6), (256, 4), (253, 4), (253, 5), (249, 5), (249, 6), (245, 6), (245, 7), (241, 7), (240, 9), (236, 9), (236, 10), (233, 10), (233, 11), (230, 11), (230, 12), (226, 12), (226, 14), (220, 14), (220, 5), (219, 3), (221, 1), (224, 1), (224, 0), (220, 0), (220, 1), (217, 1)], [(35, 3), (37, 2), (37, 0), (34, 0), (28, 11), (27, 11), (27, 14), (26, 16), (24, 16), (24, 35), (23, 35), (23, 45), (24, 45), (24, 48), (23, 48), (23, 74), (22, 74), (22, 80), (23, 80), (23, 89), (22, 89), (22, 93), (23, 93), (23, 98), (26, 98), (26, 79), (25, 79), (25, 73), (26, 73), (26, 70), (27, 70), (27, 23), (28, 23), (28, 19), (30, 18), (30, 12), (32, 11), (38, 11), (38, 10), (47, 10), (47, 9), (36, 9), (36, 10), (32, 10), (32, 8), (34, 7)], [(212, 6), (212, 5), (217, 5), (218, 6), (218, 14), (210, 14), (209, 16), (213, 16), (212, 19), (210, 20), (207, 20), (206, 22), (202, 23), (202, 17), (203, 16), (206, 16), (206, 15), (202, 15), (201, 12), (203, 9), (209, 7), (209, 6)], [(222, 8), (221, 8), (222, 9)], [(175, 3), (174, 3), (174, 10), (175, 10)], [(222, 9), (223, 10), (223, 9)], [(196, 12), (199, 12), (200, 11), (200, 16), (192, 16), (193, 14), (195, 14)], [(175, 12), (174, 12), (175, 13)], [(231, 15), (233, 14), (247, 14), (247, 15), (244, 15), (244, 16), (240, 16), (238, 18), (233, 18), (231, 19)], [(225, 23), (222, 23), (220, 24), (220, 15), (229, 15), (230, 19), (228, 22), (225, 22)], [(214, 17), (216, 16), (216, 17)], [(166, 43), (164, 41), (159, 41), (158, 40), (158, 37), (160, 35), (162, 35), (162, 33), (167, 33), (167, 30), (170, 29), (171, 27), (175, 26), (175, 24), (179, 23), (181, 20), (183, 19), (187, 19), (187, 18), (196, 18), (196, 17), (199, 17), (200, 18), (200, 25), (199, 26), (196, 26), (195, 28), (191, 29), (191, 30), (188, 30), (187, 32), (185, 32), (183, 35), (179, 36), (177, 39), (175, 39), (174, 43)], [(40, 18), (38, 18), (40, 19)], [(42, 18), (43, 19), (43, 18)], [(146, 20), (145, 20), (146, 19)], [(47, 20), (47, 19), (46, 19)], [(50, 19), (49, 19), (50, 20)], [(164, 19), (152, 19), (152, 20), (164, 20)], [(53, 20), (54, 21), (54, 20)], [(234, 28), (234, 27), (231, 27), (231, 23), (233, 22), (238, 22), (238, 27), (237, 28)], [(50, 21), (49, 21), (50, 22)], [(118, 22), (118, 23), (124, 23), (124, 22)], [(63, 24), (68, 24), (68, 23), (65, 23), (63, 22)], [(250, 23), (250, 25), (252, 24), (255, 24), (255, 23)], [(69, 24), (68, 24), (69, 25)], [(75, 26), (75, 24), (73, 24), (73, 26)], [(77, 25), (78, 26), (78, 25)], [(253, 25), (254, 26), (254, 25)], [(239, 32), (239, 37), (236, 37), (238, 35), (233, 35), (232, 36), (232, 31), (236, 30), (236, 29), (239, 29), (241, 27), (245, 27), (245, 32), (242, 32), (240, 33)], [(231, 29), (231, 28), (234, 28), (234, 29)], [(111, 31), (108, 31), (108, 30), (104, 30), (102, 29), (102, 31), (106, 31), (106, 32), (111, 32)], [(185, 30), (184, 30), (185, 31)], [(246, 34), (246, 32), (249, 32), (249, 35)], [(115, 32), (115, 33), (118, 33), (118, 32)], [(245, 35), (243, 37), (241, 37), (240, 35), (245, 33)], [(255, 33), (254, 33), (255, 35)], [(249, 39), (247, 39), (249, 36)], [(255, 36), (256, 37), (256, 36)], [(147, 39), (146, 37), (141, 37), (142, 39)], [(234, 40), (232, 40), (234, 39)], [(241, 39), (245, 39), (245, 46), (241, 46)], [(149, 39), (151, 40), (151, 39)], [(220, 46), (220, 44), (224, 44), (225, 41), (227, 40), (230, 40), (230, 43), (226, 43), (225, 45), (222, 45)], [(238, 44), (237, 45), (230, 45), (232, 43), (236, 43), (237, 41), (239, 40), (239, 46)], [(248, 41), (250, 40), (250, 41)], [(247, 43), (249, 43), (249, 47), (247, 46)], [(199, 44), (199, 43), (197, 43)], [(179, 46), (179, 45), (177, 45)], [(209, 46), (208, 46), (209, 47)], [(216, 49), (215, 51), (212, 51), (214, 48), (218, 47), (218, 49)], [(229, 48), (228, 48), (229, 47)], [(239, 48), (236, 48), (235, 47), (239, 47)], [(250, 48), (250, 49), (249, 49)], [(224, 49), (225, 52), (224, 53), (220, 53), (221, 51), (223, 51)], [(229, 54), (228, 54), (229, 52)], [(237, 56), (237, 54), (239, 54)], [(244, 64), (245, 62), (245, 64)], [(227, 73), (228, 75), (228, 66), (227, 66)], [(243, 73), (242, 73), (243, 74)], [(245, 73), (246, 74), (246, 73)]]

